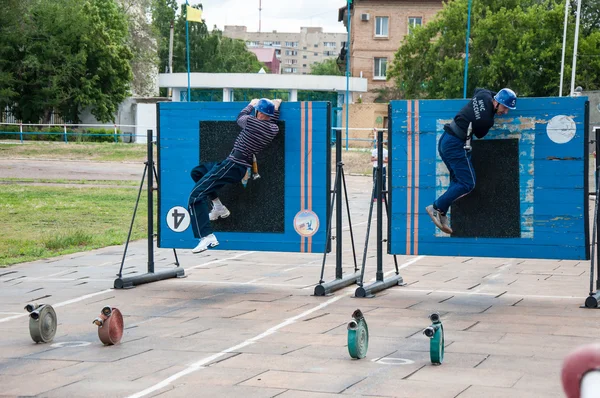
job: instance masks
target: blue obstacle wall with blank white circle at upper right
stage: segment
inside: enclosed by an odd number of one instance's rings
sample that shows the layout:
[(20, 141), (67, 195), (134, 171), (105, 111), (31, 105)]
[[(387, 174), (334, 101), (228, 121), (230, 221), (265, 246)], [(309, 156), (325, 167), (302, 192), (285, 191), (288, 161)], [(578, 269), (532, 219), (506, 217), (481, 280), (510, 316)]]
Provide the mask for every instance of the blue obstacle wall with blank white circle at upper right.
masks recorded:
[[(450, 181), (437, 144), (444, 124), (450, 122), (467, 101), (391, 102), (388, 252), (588, 259), (587, 97), (519, 99), (516, 111), (496, 118), (495, 126), (481, 140), (489, 140), (481, 142), (486, 145), (478, 148), (479, 140), (474, 137), (474, 155), (478, 149), (486, 148), (483, 162), (492, 166), (507, 158), (494, 151), (495, 147), (506, 147), (503, 144), (507, 142), (499, 140), (512, 140), (518, 148), (513, 156), (518, 161), (518, 169), (515, 168), (512, 181), (504, 182), (518, 184), (517, 197), (506, 209), (507, 215), (515, 216), (518, 212), (517, 236), (489, 237), (485, 233), (483, 236), (450, 236), (434, 226), (425, 207), (448, 188)], [(481, 170), (476, 173), (477, 185), (470, 195), (476, 193), (480, 184), (487, 184), (488, 193), (504, 195), (494, 192), (495, 180), (502, 177), (501, 173), (485, 175)], [(455, 208), (460, 201), (468, 198), (459, 199), (451, 207), (449, 218), (453, 227), (459, 222), (452, 219), (452, 212), (457, 213)], [(468, 209), (464, 207), (461, 224), (464, 226), (466, 220), (473, 229), (482, 226), (485, 229), (486, 209), (478, 208), (473, 202), (469, 202)], [(469, 221), (464, 216), (469, 213), (479, 213), (480, 217), (475, 214)]]

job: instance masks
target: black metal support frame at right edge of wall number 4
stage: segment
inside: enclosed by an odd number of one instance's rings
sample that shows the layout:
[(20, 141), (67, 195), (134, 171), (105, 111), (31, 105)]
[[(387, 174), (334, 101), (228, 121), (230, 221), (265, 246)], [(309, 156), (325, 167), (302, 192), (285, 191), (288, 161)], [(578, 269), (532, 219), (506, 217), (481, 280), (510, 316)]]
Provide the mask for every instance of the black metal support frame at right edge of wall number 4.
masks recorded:
[[(335, 131), (335, 184), (331, 191), (331, 207), (329, 211), (329, 229), (327, 230), (327, 244), (325, 245), (325, 252), (323, 254), (323, 265), (321, 266), (321, 277), (319, 284), (315, 286), (315, 296), (325, 296), (332, 292), (343, 289), (346, 286), (355, 284), (358, 278), (360, 278), (360, 272), (358, 271), (358, 265), (356, 263), (356, 250), (354, 248), (354, 234), (352, 232), (352, 220), (350, 218), (350, 204), (348, 203), (348, 191), (346, 189), (346, 178), (344, 177), (344, 163), (342, 162), (342, 141), (341, 141), (340, 130)], [(344, 276), (342, 269), (342, 186), (344, 188), (344, 196), (346, 198), (346, 209), (348, 214), (348, 224), (350, 226), (350, 240), (352, 242), (352, 254), (354, 256), (354, 273)], [(323, 274), (325, 273), (325, 262), (327, 259), (327, 249), (331, 242), (331, 219), (333, 217), (333, 209), (335, 203), (335, 279), (330, 282), (323, 280)]]

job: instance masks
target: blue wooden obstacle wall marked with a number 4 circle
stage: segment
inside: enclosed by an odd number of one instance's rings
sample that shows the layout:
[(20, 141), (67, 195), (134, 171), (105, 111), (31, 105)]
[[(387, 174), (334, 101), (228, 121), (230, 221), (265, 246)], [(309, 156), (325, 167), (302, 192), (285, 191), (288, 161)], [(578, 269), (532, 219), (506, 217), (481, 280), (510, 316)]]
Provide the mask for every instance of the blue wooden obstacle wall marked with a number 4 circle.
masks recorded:
[[(239, 112), (246, 105), (247, 103), (239, 102), (157, 104), (159, 247), (193, 248), (197, 244), (198, 241), (193, 237), (189, 226), (187, 203), (194, 186), (190, 171), (198, 165), (199, 153), (202, 150), (200, 126), (203, 125), (202, 122), (207, 121), (235, 122)], [(282, 133), (285, 164), (280, 171), (284, 173), (285, 170), (285, 197), (278, 198), (284, 203), (283, 231), (265, 233), (235, 232), (235, 228), (230, 231), (217, 230), (215, 233), (220, 245), (216, 249), (286, 252), (325, 250), (331, 190), (330, 104), (286, 102), (281, 105), (280, 111), (280, 120), (285, 125), (285, 131)], [(233, 142), (229, 148), (232, 147)], [(258, 158), (260, 159), (260, 154)], [(259, 160), (259, 174), (260, 172)], [(259, 189), (269, 189), (268, 175), (262, 175), (257, 182), (261, 184)], [(249, 184), (256, 183), (250, 181)], [(242, 190), (242, 194), (235, 200), (244, 201), (243, 192)], [(229, 200), (231, 201), (231, 198)], [(262, 211), (268, 217), (268, 206), (269, 204), (261, 205), (260, 209), (246, 207), (244, 212)], [(236, 217), (238, 220), (239, 217), (244, 217), (244, 214), (239, 213), (232, 212), (227, 221), (233, 221), (234, 225)], [(172, 221), (174, 215), (178, 217), (176, 224)], [(218, 222), (213, 222), (213, 226)]]

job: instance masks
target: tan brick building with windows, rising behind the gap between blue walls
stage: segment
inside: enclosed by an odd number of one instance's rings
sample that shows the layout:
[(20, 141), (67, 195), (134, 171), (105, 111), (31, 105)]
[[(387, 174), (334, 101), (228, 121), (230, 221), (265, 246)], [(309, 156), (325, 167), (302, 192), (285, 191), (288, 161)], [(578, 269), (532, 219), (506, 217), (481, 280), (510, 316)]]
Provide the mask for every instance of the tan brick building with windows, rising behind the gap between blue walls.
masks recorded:
[[(352, 76), (368, 79), (369, 92), (362, 101), (373, 102), (374, 89), (394, 85), (386, 81), (387, 65), (404, 36), (432, 20), (442, 9), (442, 0), (354, 0), (350, 8), (350, 70)], [(347, 28), (347, 20), (342, 7), (338, 21)]]

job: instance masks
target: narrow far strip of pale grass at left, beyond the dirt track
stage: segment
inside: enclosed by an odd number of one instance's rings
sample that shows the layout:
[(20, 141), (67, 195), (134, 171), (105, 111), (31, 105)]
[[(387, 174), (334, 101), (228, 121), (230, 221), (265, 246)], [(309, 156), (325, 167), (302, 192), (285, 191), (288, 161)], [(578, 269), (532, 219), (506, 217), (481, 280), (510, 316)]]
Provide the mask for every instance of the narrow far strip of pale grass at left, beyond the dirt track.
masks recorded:
[[(110, 142), (24, 142), (0, 143), (0, 158), (92, 160), (106, 162), (144, 162), (146, 144)], [(156, 156), (156, 146), (154, 147)], [(156, 158), (155, 158), (156, 159)]]

